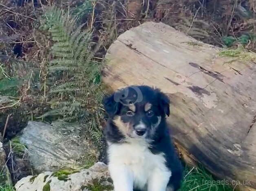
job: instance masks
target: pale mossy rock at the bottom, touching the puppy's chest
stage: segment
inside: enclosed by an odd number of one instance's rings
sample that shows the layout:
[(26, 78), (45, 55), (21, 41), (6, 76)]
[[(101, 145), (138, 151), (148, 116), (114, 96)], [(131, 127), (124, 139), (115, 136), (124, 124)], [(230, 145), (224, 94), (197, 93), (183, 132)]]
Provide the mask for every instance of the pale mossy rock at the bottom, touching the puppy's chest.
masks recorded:
[[(61, 176), (59, 173), (46, 171), (38, 176), (27, 176), (15, 184), (16, 191), (92, 191), (113, 190), (107, 165), (95, 163), (89, 169), (82, 169), (73, 174)], [(65, 177), (64, 180), (63, 178)], [(60, 180), (62, 179), (62, 180)]]

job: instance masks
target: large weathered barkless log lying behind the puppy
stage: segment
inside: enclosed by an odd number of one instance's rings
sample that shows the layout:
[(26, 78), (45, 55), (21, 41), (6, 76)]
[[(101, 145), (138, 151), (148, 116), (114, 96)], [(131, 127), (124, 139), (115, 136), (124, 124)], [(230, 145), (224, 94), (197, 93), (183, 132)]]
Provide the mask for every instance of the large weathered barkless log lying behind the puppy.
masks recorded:
[(168, 123), (177, 145), (218, 178), (254, 190), (256, 64), (230, 62), (219, 51), (170, 26), (147, 22), (110, 46), (103, 81), (113, 90), (160, 88), (172, 102)]

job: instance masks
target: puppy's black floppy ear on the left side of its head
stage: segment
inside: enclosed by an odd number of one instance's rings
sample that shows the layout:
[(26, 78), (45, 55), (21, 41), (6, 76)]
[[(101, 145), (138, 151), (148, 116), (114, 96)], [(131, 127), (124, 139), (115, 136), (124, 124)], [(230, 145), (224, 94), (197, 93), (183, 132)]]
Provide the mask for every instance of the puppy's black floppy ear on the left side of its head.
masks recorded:
[(120, 108), (120, 103), (115, 101), (114, 94), (104, 98), (103, 105), (105, 111), (108, 113), (110, 117), (113, 117), (115, 114), (117, 114)]

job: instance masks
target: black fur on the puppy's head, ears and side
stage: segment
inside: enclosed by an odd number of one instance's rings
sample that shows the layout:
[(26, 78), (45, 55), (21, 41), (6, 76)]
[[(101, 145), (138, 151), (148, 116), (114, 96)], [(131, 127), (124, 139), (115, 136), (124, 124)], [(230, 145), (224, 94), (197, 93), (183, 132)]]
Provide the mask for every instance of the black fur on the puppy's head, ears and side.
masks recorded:
[[(140, 95), (136, 91), (136, 88), (139, 89), (143, 99), (139, 100)], [(136, 102), (137, 100), (140, 102)], [(135, 103), (136, 108), (140, 108), (147, 102), (152, 103), (153, 111), (156, 113), (155, 115), (161, 116), (161, 122), (154, 132), (154, 135), (147, 137), (152, 140), (149, 150), (153, 154), (164, 153), (164, 156), (166, 157), (166, 166), (172, 171), (172, 176), (170, 177), (168, 185), (172, 185), (174, 191), (177, 191), (180, 188), (181, 180), (183, 178), (183, 167), (170, 139), (168, 126), (166, 124), (166, 115), (170, 115), (170, 100), (159, 89), (152, 89), (148, 86), (132, 86), (127, 87), (125, 90), (115, 92), (113, 95), (105, 98), (104, 107), (109, 116), (106, 128), (104, 129), (105, 138), (111, 143), (121, 143), (122, 141), (125, 141), (125, 136), (119, 131), (115, 124), (113, 124), (113, 117), (118, 115), (121, 116), (122, 121), (130, 120), (133, 123), (136, 123), (137, 115), (139, 114), (135, 113), (132, 119), (131, 117), (129, 118), (123, 115), (127, 110), (127, 106), (125, 105), (128, 103)], [(140, 117), (144, 117), (149, 124), (155, 123), (154, 118), (147, 118), (141, 114)], [(150, 122), (150, 120), (152, 122)]]

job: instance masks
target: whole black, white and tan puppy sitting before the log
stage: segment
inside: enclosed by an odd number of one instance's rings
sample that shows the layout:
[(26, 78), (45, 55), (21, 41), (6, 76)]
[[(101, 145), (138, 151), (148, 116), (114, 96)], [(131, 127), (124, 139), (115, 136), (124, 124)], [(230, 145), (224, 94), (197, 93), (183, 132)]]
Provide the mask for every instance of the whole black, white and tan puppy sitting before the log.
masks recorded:
[(104, 99), (104, 135), (115, 191), (176, 191), (183, 167), (168, 133), (170, 101), (159, 89), (130, 86)]

